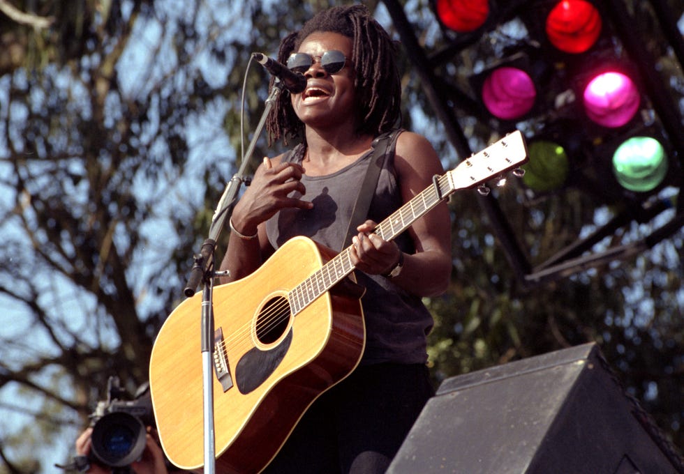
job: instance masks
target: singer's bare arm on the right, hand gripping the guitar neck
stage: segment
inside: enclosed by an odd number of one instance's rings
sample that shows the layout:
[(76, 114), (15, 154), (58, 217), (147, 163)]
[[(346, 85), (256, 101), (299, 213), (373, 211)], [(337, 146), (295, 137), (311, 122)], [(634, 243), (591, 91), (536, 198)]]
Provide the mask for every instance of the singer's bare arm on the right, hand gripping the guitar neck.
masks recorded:
[[(443, 174), (434, 148), (412, 132), (399, 135), (394, 166), (404, 203), (432, 183), (432, 176)], [(352, 263), (369, 274), (383, 275), (399, 261), (399, 247), (369, 232), (375, 222), (366, 221), (354, 238)], [(446, 202), (419, 218), (409, 228), (415, 254), (403, 255), (403, 268), (392, 282), (417, 296), (435, 296), (446, 291), (452, 268), (451, 225)]]

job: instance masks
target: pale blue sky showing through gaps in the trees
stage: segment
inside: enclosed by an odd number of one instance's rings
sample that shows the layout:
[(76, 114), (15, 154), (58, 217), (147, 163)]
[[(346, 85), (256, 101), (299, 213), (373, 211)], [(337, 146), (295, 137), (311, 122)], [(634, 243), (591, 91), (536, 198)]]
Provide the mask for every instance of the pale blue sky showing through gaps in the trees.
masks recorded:
[[(415, 0), (411, 0), (414, 1)], [(208, 5), (208, 1), (202, 1), (205, 8), (201, 9), (200, 23), (206, 22), (206, 24), (213, 24), (223, 31), (222, 34), (248, 38), (253, 34), (251, 31), (251, 25), (247, 22), (235, 22), (235, 13), (230, 13), (231, 8), (235, 8), (235, 11), (239, 7), (234, 2), (230, 0), (223, 0), (221, 6), (218, 6), (223, 11), (228, 11), (229, 13), (225, 16), (214, 15), (216, 11), (216, 5), (212, 3), (211, 6)], [(263, 2), (265, 8), (271, 4), (277, 3), (276, 0), (271, 0)], [(125, 3), (124, 3), (125, 4)], [(163, 13), (165, 15), (183, 15), (186, 12), (186, 4), (181, 0), (166, 0), (159, 3), (162, 6)], [(378, 20), (389, 26), (391, 20), (389, 15), (385, 10), (384, 6), (380, 6), (378, 10)], [(678, 22), (680, 30), (684, 34), (684, 17)], [(124, 55), (124, 60), (119, 65), (121, 69), (119, 77), (122, 79), (122, 85), (124, 90), (127, 90), (129, 94), (144, 94), (146, 93), (146, 87), (150, 84), (154, 84), (158, 77), (165, 74), (169, 74), (174, 69), (173, 54), (170, 54), (168, 50), (164, 47), (168, 47), (168, 40), (173, 31), (166, 31), (167, 35), (164, 38), (163, 49), (161, 54), (165, 54), (170, 60), (161, 63), (161, 68), (155, 68), (150, 70), (147, 66), (149, 65), (149, 56), (151, 52), (154, 52), (156, 46), (159, 43), (160, 36), (163, 32), (160, 24), (154, 20), (148, 22), (139, 22), (135, 29), (135, 36), (137, 40), (133, 41), (133, 47), (130, 47), (126, 54)], [(436, 29), (434, 31), (429, 31), (428, 36), (431, 34), (438, 34)], [(210, 59), (207, 49), (200, 49), (196, 52), (197, 66), (202, 70), (202, 73), (207, 80), (207, 82), (214, 87), (221, 87), (225, 84), (225, 78), (228, 77), (228, 70), (221, 65), (216, 65)], [(151, 76), (150, 76), (151, 75)], [(265, 76), (264, 76), (265, 77)], [(266, 79), (266, 77), (265, 77)], [(0, 116), (4, 117), (8, 113), (6, 108), (7, 104), (7, 78), (0, 78)], [(196, 174), (190, 174), (188, 176), (183, 176), (182, 179), (176, 181), (176, 185), (172, 190), (168, 188), (158, 188), (154, 181), (144, 181), (141, 179), (140, 183), (137, 183), (138, 190), (142, 194), (149, 194), (149, 198), (153, 199), (158, 197), (163, 193), (168, 193), (168, 199), (163, 199), (161, 208), (161, 214), (172, 212), (174, 208), (174, 203), (177, 199), (182, 197), (183, 199), (195, 199), (195, 206), (202, 206), (200, 201), (201, 193), (195, 193), (193, 190), (197, 189), (198, 185), (202, 183), (201, 170), (205, 169), (207, 162), (217, 162), (218, 169), (226, 179), (230, 178), (230, 170), (232, 169), (232, 163), (235, 162), (235, 152), (232, 151), (230, 144), (228, 142), (228, 137), (222, 128), (223, 114), (225, 114), (226, 105), (221, 102), (216, 102), (210, 104), (207, 107), (205, 114), (201, 116), (196, 116), (193, 121), (190, 121), (187, 126), (186, 132), (191, 143), (191, 151), (189, 155), (189, 160), (196, 163), (196, 167), (191, 167), (191, 169), (197, 170)], [(20, 111), (19, 111), (20, 112)], [(19, 113), (17, 112), (17, 113)], [(424, 133), (429, 139), (431, 137), (438, 137), (441, 135), (441, 128), (439, 125), (431, 126), (429, 116), (425, 114), (424, 111), (415, 109), (411, 112), (412, 119), (417, 125), (417, 130)], [(0, 135), (3, 135), (0, 133)], [(8, 151), (1, 148), (0, 144), (0, 155), (6, 155)], [(216, 157), (220, 157), (219, 160)], [(447, 160), (445, 160), (447, 161)], [(6, 166), (3, 162), (0, 162), (0, 176), (6, 176), (10, 172), (10, 168)], [(167, 176), (171, 178), (171, 176)], [(0, 208), (7, 208), (11, 202), (11, 196), (8, 194), (8, 190), (0, 187)], [(598, 220), (605, 219), (605, 217), (597, 216)], [(149, 261), (154, 261), (158, 259), (158, 255), (154, 252), (159, 252), (159, 254), (166, 254), (170, 249), (177, 244), (177, 239), (174, 238), (173, 229), (170, 227), (168, 222), (163, 219), (150, 220), (149, 222), (141, 223), (144, 233), (147, 233), (151, 241), (156, 241), (162, 243), (162, 247), (157, 247), (156, 249), (147, 249), (149, 254), (141, 257), (141, 261), (144, 263), (146, 259)], [(11, 231), (10, 227), (3, 227), (3, 231)], [(664, 257), (667, 258), (667, 257)], [(672, 258), (672, 257), (669, 257)], [(10, 264), (20, 263), (20, 262), (10, 262)], [(140, 266), (140, 280), (147, 280), (147, 266), (142, 264)], [(70, 321), (75, 328), (82, 328), (86, 331), (89, 328), (88, 312), (89, 308), (93, 307), (94, 301), (89, 301), (84, 298), (82, 294), (77, 294), (69, 289), (68, 284), (61, 282), (59, 275), (50, 275), (50, 278), (46, 280), (45, 283), (46, 293), (56, 296), (54, 298), (54, 305), (61, 307), (66, 314), (81, 314), (81, 318), (74, 318)], [(638, 290), (635, 290), (634, 297), (639, 297)], [(681, 293), (681, 302), (684, 307), (684, 289)], [(142, 303), (147, 304), (147, 303)], [(153, 300), (149, 300), (150, 305), (154, 305)], [(47, 339), (42, 339), (45, 335), (34, 334), (31, 332), (30, 319), (22, 318), (21, 314), (23, 309), (18, 307), (15, 302), (10, 301), (6, 298), (0, 296), (0, 307), (3, 308), (3, 312), (0, 314), (0, 326), (3, 328), (3, 332), (7, 334), (12, 332), (16, 335), (16, 346), (13, 348), (15, 353), (22, 353), (22, 351), (29, 351), (31, 347), (35, 346), (45, 346), (46, 348), (50, 345), (47, 344)], [(646, 308), (648, 309), (648, 308)], [(26, 335), (30, 335), (27, 338)], [(106, 329), (103, 332), (93, 335), (93, 337), (114, 337), (113, 335), (107, 335)], [(116, 341), (112, 339), (112, 344)], [(68, 392), (69, 388), (64, 387), (64, 390)], [(32, 410), (38, 408), (38, 404), (24, 403), (22, 400), (24, 396), (22, 393), (17, 392), (13, 387), (3, 388), (0, 391), (0, 414), (3, 416), (3, 430), (12, 429), (12, 426), (18, 426), (20, 422), (25, 420), (31, 420), (33, 418)], [(20, 407), (19, 410), (6, 408)], [(23, 413), (22, 413), (23, 411)], [(75, 420), (66, 420), (66, 422), (75, 422)], [(45, 459), (45, 466), (47, 469), (46, 473), (54, 472), (52, 470), (52, 465), (54, 463), (64, 462), (64, 457), (68, 453), (73, 453), (73, 440), (77, 433), (80, 431), (80, 427), (73, 426), (67, 431), (65, 431), (65, 436), (63, 439), (57, 441), (55, 445), (45, 448), (45, 452), (41, 454), (41, 457)]]

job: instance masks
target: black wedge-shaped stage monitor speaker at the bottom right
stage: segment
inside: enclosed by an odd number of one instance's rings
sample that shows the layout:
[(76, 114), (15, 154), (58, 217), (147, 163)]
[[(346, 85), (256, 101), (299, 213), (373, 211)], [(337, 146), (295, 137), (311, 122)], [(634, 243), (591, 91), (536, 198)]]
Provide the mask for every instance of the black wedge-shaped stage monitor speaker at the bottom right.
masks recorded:
[(445, 380), (388, 474), (669, 474), (681, 456), (595, 344)]

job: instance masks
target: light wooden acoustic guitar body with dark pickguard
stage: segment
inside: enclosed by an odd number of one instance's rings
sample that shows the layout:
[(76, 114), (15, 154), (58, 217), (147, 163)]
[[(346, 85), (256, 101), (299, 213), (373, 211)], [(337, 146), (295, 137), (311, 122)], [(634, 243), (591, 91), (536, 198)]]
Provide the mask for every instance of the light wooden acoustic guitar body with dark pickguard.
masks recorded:
[[(295, 315), (282, 307), (288, 292), (334, 255), (293, 238), (252, 275), (214, 288), (216, 471), (261, 471), (308, 406), (358, 365), (365, 342), (360, 293), (325, 291)], [(149, 369), (163, 449), (187, 470), (204, 464), (201, 303), (198, 293), (170, 314)], [(271, 324), (274, 315), (279, 322)], [(218, 357), (227, 367), (221, 377)]]

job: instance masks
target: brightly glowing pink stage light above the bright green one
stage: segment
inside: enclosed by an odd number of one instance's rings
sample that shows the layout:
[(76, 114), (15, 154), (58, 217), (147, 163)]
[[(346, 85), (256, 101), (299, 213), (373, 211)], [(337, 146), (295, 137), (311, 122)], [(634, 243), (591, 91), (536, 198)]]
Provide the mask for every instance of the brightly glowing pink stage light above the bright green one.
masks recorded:
[(639, 91), (622, 72), (603, 72), (590, 80), (583, 93), (587, 116), (604, 127), (617, 128), (629, 122), (639, 109)]

